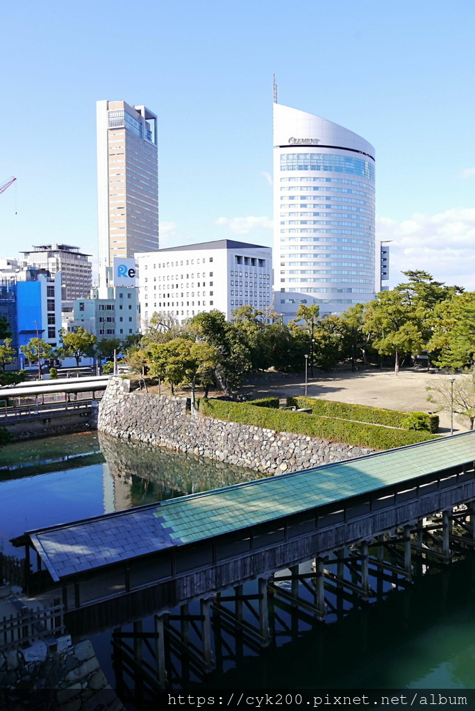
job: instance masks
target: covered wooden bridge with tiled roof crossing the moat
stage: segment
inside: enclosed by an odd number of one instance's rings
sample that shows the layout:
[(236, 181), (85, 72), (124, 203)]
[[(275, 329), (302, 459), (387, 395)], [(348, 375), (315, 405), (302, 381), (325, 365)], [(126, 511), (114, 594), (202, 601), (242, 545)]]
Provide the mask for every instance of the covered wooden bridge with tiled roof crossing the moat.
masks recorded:
[[(30, 589), (60, 587), (70, 624), (84, 633), (251, 579), (260, 580), (265, 616), (273, 574), (309, 560), (316, 561), (314, 611), (324, 616), (325, 578), (368, 596), (368, 566), (410, 578), (412, 556), (428, 555), (425, 533), (440, 561), (450, 560), (455, 519), (473, 542), (474, 460), (475, 432), (466, 432), (28, 531), (13, 542), (26, 549)], [(437, 523), (427, 520), (439, 513)], [(384, 560), (391, 542), (400, 546), (400, 564)], [(356, 583), (342, 573), (352, 556)], [(333, 563), (336, 573), (328, 570)]]

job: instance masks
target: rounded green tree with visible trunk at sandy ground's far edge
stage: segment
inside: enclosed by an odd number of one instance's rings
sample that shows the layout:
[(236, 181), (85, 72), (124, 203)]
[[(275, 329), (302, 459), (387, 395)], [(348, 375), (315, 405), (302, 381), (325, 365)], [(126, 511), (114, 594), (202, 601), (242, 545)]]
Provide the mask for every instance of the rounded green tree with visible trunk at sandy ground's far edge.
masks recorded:
[(396, 289), (380, 292), (374, 301), (366, 304), (363, 332), (374, 338), (375, 349), (380, 355), (394, 355), (396, 375), (401, 355), (424, 350), (420, 319)]

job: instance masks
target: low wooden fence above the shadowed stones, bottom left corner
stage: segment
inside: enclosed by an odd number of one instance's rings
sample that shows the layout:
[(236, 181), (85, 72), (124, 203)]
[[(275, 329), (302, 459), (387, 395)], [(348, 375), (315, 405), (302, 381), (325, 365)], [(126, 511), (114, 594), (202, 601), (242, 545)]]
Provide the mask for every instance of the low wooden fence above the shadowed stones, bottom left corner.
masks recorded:
[(63, 634), (64, 606), (58, 598), (51, 607), (24, 607), (18, 614), (0, 619), (0, 651), (38, 639), (54, 643), (54, 638)]

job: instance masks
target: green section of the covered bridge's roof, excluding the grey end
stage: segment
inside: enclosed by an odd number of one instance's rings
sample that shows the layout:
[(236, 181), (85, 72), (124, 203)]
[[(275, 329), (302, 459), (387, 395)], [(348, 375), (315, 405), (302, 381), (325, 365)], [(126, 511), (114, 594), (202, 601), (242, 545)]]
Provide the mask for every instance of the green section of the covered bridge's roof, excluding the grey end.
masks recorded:
[(292, 474), (184, 496), (154, 515), (176, 543), (190, 543), (335, 503), (475, 459), (475, 432), (421, 442)]

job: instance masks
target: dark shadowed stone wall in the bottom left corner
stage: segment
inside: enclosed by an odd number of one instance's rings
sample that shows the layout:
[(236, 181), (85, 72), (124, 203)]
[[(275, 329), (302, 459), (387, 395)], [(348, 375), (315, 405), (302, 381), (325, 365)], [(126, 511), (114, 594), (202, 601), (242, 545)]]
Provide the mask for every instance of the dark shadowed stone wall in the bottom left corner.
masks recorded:
[(29, 708), (31, 700), (45, 711), (125, 711), (90, 641), (71, 646), (69, 637), (54, 652), (43, 641), (0, 651), (0, 711)]

